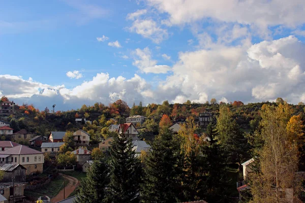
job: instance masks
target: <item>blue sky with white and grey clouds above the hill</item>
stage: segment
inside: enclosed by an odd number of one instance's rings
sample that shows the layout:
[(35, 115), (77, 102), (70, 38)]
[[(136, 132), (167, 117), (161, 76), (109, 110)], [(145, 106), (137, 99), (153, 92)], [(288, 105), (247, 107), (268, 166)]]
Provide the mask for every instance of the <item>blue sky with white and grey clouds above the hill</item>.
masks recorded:
[(305, 102), (303, 0), (0, 4), (0, 96), (19, 105)]

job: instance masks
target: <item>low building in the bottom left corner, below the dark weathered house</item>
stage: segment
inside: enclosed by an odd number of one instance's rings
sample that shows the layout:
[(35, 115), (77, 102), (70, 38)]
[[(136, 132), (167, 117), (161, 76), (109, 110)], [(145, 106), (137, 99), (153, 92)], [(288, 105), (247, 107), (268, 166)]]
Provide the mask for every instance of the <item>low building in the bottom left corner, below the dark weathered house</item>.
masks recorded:
[(0, 183), (0, 194), (2, 194), (7, 200), (4, 203), (13, 203), (23, 201), (25, 183), (22, 182), (7, 182)]

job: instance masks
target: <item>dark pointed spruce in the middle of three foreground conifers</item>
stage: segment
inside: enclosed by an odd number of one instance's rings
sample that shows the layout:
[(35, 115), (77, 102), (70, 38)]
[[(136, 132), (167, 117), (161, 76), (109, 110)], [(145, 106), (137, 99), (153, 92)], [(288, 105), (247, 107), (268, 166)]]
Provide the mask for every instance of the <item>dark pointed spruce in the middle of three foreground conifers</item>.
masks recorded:
[(138, 202), (141, 180), (140, 159), (135, 157), (133, 143), (114, 136), (110, 147), (110, 183), (107, 202)]

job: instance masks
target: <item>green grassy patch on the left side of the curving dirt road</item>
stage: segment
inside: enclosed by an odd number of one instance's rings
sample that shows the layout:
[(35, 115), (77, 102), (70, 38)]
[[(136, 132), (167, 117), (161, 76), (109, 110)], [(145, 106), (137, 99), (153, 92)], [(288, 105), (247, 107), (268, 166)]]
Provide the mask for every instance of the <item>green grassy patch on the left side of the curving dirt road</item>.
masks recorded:
[[(65, 179), (65, 185), (69, 184), (69, 180)], [(24, 190), (24, 196), (35, 198), (47, 195), (50, 198), (56, 196), (60, 190), (64, 188), (64, 178), (62, 176), (57, 176), (48, 185), (35, 190)]]

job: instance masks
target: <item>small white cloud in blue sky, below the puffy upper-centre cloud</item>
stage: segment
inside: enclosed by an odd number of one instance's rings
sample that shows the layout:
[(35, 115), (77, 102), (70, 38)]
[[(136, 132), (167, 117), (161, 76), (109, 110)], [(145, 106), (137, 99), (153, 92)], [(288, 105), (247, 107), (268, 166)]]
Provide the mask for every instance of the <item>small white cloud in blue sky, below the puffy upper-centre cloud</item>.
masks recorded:
[(158, 61), (151, 59), (151, 51), (148, 47), (143, 50), (136, 49), (134, 55), (132, 64), (137, 66), (143, 73), (165, 74), (171, 69), (168, 65), (157, 65)]

